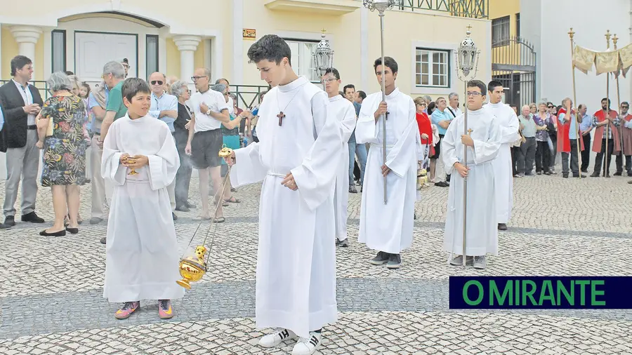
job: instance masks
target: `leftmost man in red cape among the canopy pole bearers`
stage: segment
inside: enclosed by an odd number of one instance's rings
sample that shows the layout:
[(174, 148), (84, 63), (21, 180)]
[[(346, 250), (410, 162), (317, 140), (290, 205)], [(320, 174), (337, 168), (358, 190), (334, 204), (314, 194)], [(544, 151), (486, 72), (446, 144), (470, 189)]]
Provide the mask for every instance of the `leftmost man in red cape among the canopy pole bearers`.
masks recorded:
[[(568, 178), (568, 156), (570, 154), (570, 168), (573, 178), (579, 178), (579, 151), (577, 150), (577, 135), (579, 121), (575, 114), (573, 102), (570, 98), (562, 100), (562, 109), (558, 111), (558, 152), (562, 152), (562, 177)], [(570, 111), (570, 114), (567, 112)], [(579, 140), (581, 150), (584, 150), (584, 140)], [(581, 175), (581, 178), (586, 176)]]

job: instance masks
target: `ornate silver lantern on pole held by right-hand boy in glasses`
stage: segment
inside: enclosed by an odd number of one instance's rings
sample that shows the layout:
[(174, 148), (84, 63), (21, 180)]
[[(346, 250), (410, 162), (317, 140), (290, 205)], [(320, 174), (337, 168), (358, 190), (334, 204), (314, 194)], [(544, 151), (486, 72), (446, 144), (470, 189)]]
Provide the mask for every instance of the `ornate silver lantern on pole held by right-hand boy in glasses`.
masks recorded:
[[(465, 83), (465, 107), (463, 110), (463, 133), (469, 135), (472, 130), (468, 129), (468, 81), (476, 76), (478, 71), (478, 57), (480, 51), (476, 48), (474, 41), (470, 38), (470, 29), (468, 26), (466, 39), (461, 41), (461, 45), (456, 53), (456, 75), (459, 80)], [(485, 93), (482, 93), (485, 95)], [(468, 147), (463, 145), (463, 166), (468, 166)], [(468, 215), (468, 180), (463, 179), (463, 267), (466, 266), (466, 230)], [(454, 237), (452, 238), (452, 246), (454, 246)], [(452, 250), (450, 250), (452, 253)]]

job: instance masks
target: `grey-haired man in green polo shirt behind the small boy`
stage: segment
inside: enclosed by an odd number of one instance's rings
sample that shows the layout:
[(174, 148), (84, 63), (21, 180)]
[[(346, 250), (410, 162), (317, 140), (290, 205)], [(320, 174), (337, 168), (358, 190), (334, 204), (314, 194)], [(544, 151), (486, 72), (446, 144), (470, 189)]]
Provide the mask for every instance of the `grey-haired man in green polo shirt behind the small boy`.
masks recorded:
[[(125, 69), (121, 63), (115, 61), (105, 63), (105, 66), (103, 66), (103, 81), (110, 88), (110, 93), (107, 95), (105, 116), (103, 117), (103, 123), (101, 123), (101, 133), (97, 138), (97, 146), (100, 149), (103, 149), (103, 141), (112, 123), (127, 113), (127, 107), (123, 105), (122, 88), (124, 79)], [(103, 150), (101, 150), (101, 154), (103, 154)], [(97, 162), (93, 161), (93, 164), (95, 163)], [(99, 159), (98, 166), (101, 165), (100, 163)], [(100, 175), (100, 173), (97, 175)], [(103, 195), (105, 195), (105, 189)], [(92, 196), (94, 198), (94, 194)], [(101, 243), (105, 244), (105, 236), (101, 238)]]

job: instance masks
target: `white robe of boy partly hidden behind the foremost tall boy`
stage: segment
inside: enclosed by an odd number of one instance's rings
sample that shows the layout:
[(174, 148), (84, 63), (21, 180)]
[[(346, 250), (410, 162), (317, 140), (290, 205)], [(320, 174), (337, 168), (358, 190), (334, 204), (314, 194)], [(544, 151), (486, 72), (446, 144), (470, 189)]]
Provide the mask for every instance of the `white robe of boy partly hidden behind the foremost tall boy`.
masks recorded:
[(347, 239), (347, 206), (349, 203), (349, 138), (355, 130), (355, 107), (353, 104), (336, 95), (329, 98), (327, 106), (329, 116), (335, 117), (340, 124), (342, 150), (340, 166), (336, 173), (336, 193), (334, 194), (334, 213), (336, 214), (336, 237), (339, 241)]

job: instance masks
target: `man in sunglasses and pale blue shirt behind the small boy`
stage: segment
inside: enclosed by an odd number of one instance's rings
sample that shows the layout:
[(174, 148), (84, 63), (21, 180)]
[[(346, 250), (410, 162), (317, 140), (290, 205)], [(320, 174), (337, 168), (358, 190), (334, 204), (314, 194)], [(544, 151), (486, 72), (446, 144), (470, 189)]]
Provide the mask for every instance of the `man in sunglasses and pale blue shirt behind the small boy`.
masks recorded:
[[(176, 96), (165, 93), (166, 77), (164, 74), (154, 72), (150, 75), (149, 84), (152, 89), (152, 104), (150, 106), (149, 115), (155, 119), (159, 119), (169, 126), (171, 135), (176, 132), (176, 128), (173, 127), (173, 122), (178, 118), (178, 99)], [(169, 193), (169, 202), (171, 203), (171, 217), (173, 220), (177, 220), (176, 216), (176, 180), (174, 179), (169, 186), (167, 186), (167, 192)]]

